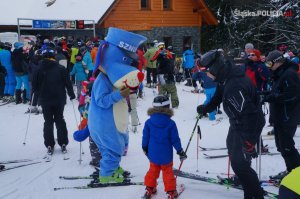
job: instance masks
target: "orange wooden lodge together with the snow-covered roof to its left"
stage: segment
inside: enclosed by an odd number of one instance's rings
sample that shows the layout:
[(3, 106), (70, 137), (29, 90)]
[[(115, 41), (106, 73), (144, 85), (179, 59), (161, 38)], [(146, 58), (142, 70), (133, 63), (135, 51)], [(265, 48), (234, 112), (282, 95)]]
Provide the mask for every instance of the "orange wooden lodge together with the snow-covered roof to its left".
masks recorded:
[[(7, 9), (3, 10), (16, 9), (16, 4), (9, 4), (17, 0), (4, 1), (7, 2), (4, 4)], [(96, 35), (100, 38), (106, 35), (109, 27), (117, 27), (142, 34), (148, 38), (148, 42), (164, 41), (166, 46), (172, 45), (176, 53), (182, 53), (186, 45), (199, 52), (201, 26), (217, 24), (216, 17), (204, 0), (86, 0), (77, 3), (70, 0), (51, 0), (53, 5), (49, 7), (41, 0), (31, 2), (34, 4), (18, 1), (19, 12), (2, 13), (5, 17), (0, 19), (0, 32), (17, 32), (17, 18), (20, 17), (48, 20), (87, 18), (95, 21)], [(24, 30), (21, 34), (73, 35), (81, 38), (93, 36), (92, 31), (80, 30), (32, 29)]]

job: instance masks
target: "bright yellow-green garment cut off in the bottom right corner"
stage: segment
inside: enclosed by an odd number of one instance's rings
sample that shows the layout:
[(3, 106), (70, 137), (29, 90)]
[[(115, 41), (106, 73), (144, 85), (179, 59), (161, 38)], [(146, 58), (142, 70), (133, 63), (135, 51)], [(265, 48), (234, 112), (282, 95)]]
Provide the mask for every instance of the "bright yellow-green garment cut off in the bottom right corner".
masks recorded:
[(300, 166), (293, 169), (291, 173), (284, 177), (280, 185), (300, 195)]

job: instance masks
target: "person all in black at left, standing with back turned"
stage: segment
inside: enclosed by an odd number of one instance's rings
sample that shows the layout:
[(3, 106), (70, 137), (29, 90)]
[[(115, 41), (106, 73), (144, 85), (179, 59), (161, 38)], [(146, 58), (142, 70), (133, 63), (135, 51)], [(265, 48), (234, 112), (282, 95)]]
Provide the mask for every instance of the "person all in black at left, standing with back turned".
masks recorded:
[(43, 60), (39, 70), (34, 74), (32, 89), (38, 95), (39, 104), (43, 109), (44, 144), (48, 153), (52, 154), (55, 140), (53, 124), (57, 128), (57, 141), (62, 151), (69, 143), (68, 130), (63, 112), (66, 104), (66, 89), (70, 100), (75, 99), (72, 83), (67, 69), (55, 61), (55, 51), (47, 47), (42, 51)]

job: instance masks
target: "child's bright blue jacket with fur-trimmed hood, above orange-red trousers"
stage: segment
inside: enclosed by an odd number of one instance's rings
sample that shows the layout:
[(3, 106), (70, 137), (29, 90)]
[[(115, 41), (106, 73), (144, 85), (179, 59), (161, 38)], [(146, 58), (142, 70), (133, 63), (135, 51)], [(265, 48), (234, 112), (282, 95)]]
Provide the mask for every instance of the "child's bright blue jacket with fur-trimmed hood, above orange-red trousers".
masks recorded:
[(171, 119), (173, 111), (165, 108), (148, 110), (150, 118), (143, 129), (143, 149), (148, 150), (148, 158), (158, 165), (173, 161), (173, 147), (182, 150), (175, 122)]

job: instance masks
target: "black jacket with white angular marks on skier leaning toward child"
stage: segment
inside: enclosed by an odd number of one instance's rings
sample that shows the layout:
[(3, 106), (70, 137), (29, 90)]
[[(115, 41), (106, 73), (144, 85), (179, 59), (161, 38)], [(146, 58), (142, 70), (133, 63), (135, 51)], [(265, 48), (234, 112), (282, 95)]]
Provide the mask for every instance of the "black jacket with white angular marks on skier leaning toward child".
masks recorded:
[(259, 104), (259, 97), (240, 67), (231, 64), (226, 81), (218, 84), (216, 93), (205, 107), (211, 112), (223, 102), (223, 108), (229, 117), (230, 128), (233, 128), (242, 140), (256, 143), (261, 132), (255, 132), (256, 124), (264, 124), (263, 112)]

